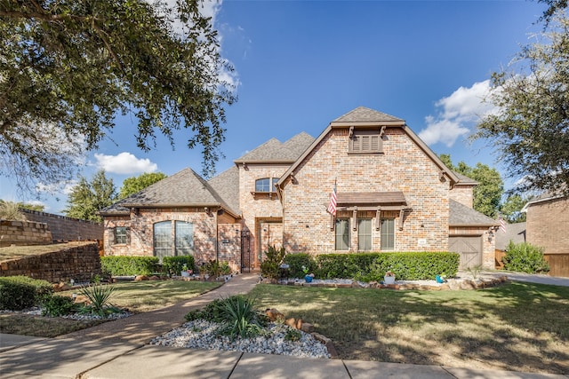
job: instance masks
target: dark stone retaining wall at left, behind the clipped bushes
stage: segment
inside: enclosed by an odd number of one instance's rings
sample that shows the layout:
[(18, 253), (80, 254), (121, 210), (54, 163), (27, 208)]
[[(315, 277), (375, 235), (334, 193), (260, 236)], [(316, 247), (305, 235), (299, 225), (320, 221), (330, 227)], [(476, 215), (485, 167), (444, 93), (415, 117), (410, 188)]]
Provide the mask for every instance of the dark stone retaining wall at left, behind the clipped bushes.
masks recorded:
[(0, 263), (0, 276), (25, 275), (52, 283), (71, 279), (88, 281), (100, 274), (97, 243), (82, 243), (74, 248)]

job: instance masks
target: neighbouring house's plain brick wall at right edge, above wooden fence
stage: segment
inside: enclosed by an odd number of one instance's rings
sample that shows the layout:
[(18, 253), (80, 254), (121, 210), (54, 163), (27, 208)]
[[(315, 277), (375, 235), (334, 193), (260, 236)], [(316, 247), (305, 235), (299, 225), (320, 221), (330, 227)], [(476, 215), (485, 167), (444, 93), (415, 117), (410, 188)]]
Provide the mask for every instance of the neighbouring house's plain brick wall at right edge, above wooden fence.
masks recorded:
[(569, 254), (569, 199), (530, 204), (525, 239), (545, 248), (545, 254)]

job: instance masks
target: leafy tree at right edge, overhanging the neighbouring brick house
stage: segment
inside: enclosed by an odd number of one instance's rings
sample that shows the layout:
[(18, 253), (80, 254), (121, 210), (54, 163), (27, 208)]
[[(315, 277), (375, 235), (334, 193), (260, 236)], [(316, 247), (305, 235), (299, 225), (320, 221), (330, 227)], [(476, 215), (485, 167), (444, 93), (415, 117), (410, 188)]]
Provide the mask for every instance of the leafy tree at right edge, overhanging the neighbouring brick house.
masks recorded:
[(569, 193), (569, 19), (558, 12), (552, 22), (541, 43), (493, 73), (489, 100), (498, 110), (474, 136), (492, 141), (509, 176), (523, 178), (517, 193)]

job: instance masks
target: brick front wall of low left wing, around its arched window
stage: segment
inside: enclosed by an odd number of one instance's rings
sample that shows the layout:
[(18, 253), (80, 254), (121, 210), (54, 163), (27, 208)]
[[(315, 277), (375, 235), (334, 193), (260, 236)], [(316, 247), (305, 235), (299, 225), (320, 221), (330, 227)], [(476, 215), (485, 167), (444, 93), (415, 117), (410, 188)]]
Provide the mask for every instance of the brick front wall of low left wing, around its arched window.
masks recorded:
[[(234, 270), (240, 270), (240, 234), (241, 225), (233, 217), (224, 214), (219, 217), (217, 226), (216, 209), (204, 208), (164, 208), (137, 209), (130, 216), (105, 217), (104, 251), (108, 256), (154, 256), (154, 225), (162, 221), (184, 221), (194, 225), (194, 259), (196, 265), (219, 257), (220, 261), (228, 261)], [(129, 230), (129, 243), (116, 244), (114, 228), (126, 226)], [(216, 247), (215, 233), (220, 233), (219, 245)], [(172, 241), (175, 227), (172, 225)], [(239, 238), (237, 238), (239, 237)], [(172, 249), (172, 256), (174, 251)]]

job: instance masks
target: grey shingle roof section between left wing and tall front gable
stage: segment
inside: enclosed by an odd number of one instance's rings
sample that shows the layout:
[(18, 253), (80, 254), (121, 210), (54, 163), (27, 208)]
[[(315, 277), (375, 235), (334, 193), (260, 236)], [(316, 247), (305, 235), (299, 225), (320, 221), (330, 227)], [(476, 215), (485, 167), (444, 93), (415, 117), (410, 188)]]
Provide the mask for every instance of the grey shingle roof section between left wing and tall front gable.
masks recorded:
[(282, 143), (271, 138), (264, 144), (236, 159), (240, 162), (294, 162), (310, 146), (314, 138), (305, 132)]

